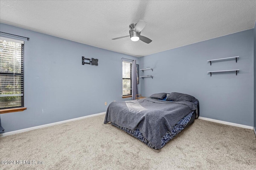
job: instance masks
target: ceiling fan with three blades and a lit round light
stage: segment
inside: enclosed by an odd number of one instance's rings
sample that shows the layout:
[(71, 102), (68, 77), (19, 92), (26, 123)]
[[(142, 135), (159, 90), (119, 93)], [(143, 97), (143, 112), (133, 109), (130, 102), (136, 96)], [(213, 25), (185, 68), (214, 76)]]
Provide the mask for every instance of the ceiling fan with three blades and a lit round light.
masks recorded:
[(132, 41), (143, 41), (144, 43), (151, 43), (152, 40), (149, 39), (148, 37), (144, 37), (142, 35), (140, 35), (140, 32), (142, 31), (142, 29), (144, 29), (144, 27), (146, 26), (146, 22), (139, 20), (138, 23), (132, 23), (129, 28), (130, 28), (130, 35), (126, 35), (123, 37), (117, 37), (117, 38), (113, 38), (113, 40), (115, 39), (120, 39), (120, 38), (124, 38), (124, 37), (129, 37), (131, 38)]

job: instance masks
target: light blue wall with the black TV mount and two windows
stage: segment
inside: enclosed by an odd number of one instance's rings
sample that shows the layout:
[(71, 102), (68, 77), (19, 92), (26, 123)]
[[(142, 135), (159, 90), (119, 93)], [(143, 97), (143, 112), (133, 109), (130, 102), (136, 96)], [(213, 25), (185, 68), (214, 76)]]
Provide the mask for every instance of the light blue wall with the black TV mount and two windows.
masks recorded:
[[(0, 31), (30, 37), (20, 39), (27, 109), (1, 114), (5, 132), (104, 112), (104, 102), (124, 100), (121, 58), (138, 58), (3, 23)], [(82, 56), (99, 59), (99, 65), (82, 65)]]

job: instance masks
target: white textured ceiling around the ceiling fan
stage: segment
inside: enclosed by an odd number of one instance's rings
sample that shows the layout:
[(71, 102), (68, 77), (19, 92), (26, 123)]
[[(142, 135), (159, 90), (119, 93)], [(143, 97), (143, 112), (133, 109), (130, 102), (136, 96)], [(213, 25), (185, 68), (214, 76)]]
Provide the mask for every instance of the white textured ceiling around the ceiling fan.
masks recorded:
[[(129, 25), (148, 24), (133, 42)], [(256, 1), (1, 0), (0, 22), (136, 57), (252, 29)]]

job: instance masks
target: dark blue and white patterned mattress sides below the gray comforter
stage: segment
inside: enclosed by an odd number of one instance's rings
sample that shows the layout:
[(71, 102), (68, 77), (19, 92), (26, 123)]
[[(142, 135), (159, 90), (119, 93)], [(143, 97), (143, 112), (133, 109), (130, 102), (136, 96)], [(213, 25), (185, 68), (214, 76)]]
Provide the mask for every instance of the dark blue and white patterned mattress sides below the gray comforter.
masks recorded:
[[(176, 123), (176, 125), (174, 125), (174, 127), (172, 128), (172, 131), (168, 131), (163, 137), (162, 137), (162, 144), (161, 144), (161, 148), (164, 147), (164, 145), (166, 145), (166, 143), (168, 143), (171, 139), (173, 139), (176, 135), (178, 135), (178, 133), (180, 133), (183, 129), (185, 129), (188, 125), (190, 125), (191, 123), (194, 122), (195, 119), (195, 113), (194, 111), (192, 111), (191, 113), (189, 113), (188, 115), (186, 115), (185, 117), (183, 117), (182, 119), (180, 119), (180, 121), (178, 121), (178, 123)], [(129, 135), (132, 135), (133, 137), (137, 138), (138, 140), (142, 141), (143, 143), (145, 143), (146, 145), (148, 145), (148, 147), (152, 148), (152, 149), (156, 149), (156, 147), (154, 147), (140, 132), (140, 129), (136, 128), (135, 130), (131, 130), (128, 129), (126, 127), (122, 127), (119, 126), (115, 123), (112, 123), (112, 125), (114, 125), (115, 127), (118, 127), (119, 129), (125, 131), (126, 133), (128, 133)]]

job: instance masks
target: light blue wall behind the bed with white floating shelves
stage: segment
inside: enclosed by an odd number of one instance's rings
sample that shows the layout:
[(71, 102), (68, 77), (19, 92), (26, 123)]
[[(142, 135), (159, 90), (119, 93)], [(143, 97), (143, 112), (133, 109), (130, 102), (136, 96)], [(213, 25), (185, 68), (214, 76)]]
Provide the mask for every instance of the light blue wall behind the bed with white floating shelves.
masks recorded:
[[(142, 95), (181, 92), (200, 102), (200, 116), (242, 125), (254, 125), (254, 29), (202, 41), (140, 58), (144, 71)], [(239, 56), (235, 60), (207, 63), (210, 59)], [(240, 69), (213, 74), (207, 71)], [(142, 72), (140, 73), (142, 74)]]

